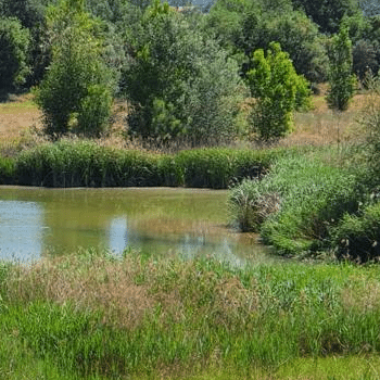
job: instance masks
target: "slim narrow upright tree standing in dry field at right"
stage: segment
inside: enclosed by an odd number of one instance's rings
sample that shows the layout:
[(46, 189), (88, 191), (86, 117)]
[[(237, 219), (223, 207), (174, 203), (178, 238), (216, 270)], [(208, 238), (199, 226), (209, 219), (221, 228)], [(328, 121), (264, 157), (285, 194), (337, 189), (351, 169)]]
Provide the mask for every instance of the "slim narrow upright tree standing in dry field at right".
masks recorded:
[(356, 87), (356, 77), (352, 74), (352, 42), (345, 25), (342, 25), (339, 34), (332, 37), (328, 54), (329, 90), (327, 102), (330, 109), (345, 111)]

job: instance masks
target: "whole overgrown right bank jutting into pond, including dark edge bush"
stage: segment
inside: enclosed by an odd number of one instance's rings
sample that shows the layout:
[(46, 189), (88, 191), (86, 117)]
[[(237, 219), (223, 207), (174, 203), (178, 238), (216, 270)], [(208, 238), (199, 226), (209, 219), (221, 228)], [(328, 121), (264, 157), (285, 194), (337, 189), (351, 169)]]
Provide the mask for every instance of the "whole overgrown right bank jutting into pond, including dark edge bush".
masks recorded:
[[(340, 258), (377, 257), (378, 249), (368, 249), (379, 239), (377, 221), (363, 221), (356, 231), (347, 226), (349, 215), (360, 217), (366, 205), (376, 203), (373, 178), (368, 178), (360, 149), (344, 149), (324, 147), (302, 155), (282, 155), (263, 180), (244, 180), (230, 193), (236, 224), (259, 232), (263, 241), (282, 255), (338, 251)], [(371, 220), (375, 214), (372, 211)], [(342, 218), (347, 221), (342, 224)], [(356, 238), (370, 243), (354, 243)], [(344, 250), (342, 242), (349, 245), (350, 239), (352, 243)]]

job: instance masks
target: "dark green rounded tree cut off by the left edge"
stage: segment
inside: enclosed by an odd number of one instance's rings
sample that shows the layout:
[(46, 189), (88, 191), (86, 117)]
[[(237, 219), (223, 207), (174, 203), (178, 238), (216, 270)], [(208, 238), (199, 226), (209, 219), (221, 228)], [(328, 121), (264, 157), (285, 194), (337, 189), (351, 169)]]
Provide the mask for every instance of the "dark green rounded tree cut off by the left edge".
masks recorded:
[(0, 90), (25, 83), (29, 73), (30, 35), (14, 17), (0, 17)]

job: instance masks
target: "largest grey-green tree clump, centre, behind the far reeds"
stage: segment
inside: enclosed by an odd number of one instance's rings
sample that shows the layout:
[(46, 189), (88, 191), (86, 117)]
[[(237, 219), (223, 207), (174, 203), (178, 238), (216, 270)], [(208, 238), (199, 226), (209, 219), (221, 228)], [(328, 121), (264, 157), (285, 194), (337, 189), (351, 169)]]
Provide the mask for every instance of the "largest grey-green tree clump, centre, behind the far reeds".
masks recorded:
[(194, 145), (235, 139), (245, 94), (237, 63), (167, 4), (149, 7), (141, 26), (123, 77), (135, 104), (129, 132)]

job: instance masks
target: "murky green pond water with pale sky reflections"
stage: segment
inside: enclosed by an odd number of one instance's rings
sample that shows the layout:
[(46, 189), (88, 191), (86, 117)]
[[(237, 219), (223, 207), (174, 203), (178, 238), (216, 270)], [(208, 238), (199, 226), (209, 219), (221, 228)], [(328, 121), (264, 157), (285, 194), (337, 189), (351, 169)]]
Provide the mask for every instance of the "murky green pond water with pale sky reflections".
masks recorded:
[(131, 248), (233, 263), (264, 254), (228, 227), (227, 191), (0, 187), (0, 258)]

